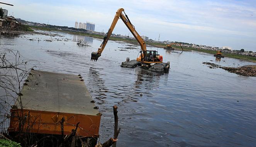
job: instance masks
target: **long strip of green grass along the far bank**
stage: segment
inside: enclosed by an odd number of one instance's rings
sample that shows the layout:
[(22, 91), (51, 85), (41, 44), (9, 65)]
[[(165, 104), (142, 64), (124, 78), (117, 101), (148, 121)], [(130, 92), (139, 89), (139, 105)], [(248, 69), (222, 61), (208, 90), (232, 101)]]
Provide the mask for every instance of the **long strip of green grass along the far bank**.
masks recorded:
[[(98, 39), (103, 39), (104, 38), (104, 36), (102, 36), (102, 35), (91, 34), (91, 33), (86, 33), (86, 32), (85, 33), (84, 32), (74, 32), (74, 31), (68, 31), (68, 30), (58, 30), (58, 29), (55, 29), (55, 28), (38, 27), (38, 26), (29, 26), (29, 27), (39, 29), (39, 30), (46, 30), (46, 31), (61, 31), (61, 32), (72, 34), (72, 35), (85, 35), (85, 36), (90, 36), (90, 37), (98, 38)], [(131, 43), (131, 44), (134, 44), (134, 45), (139, 45), (137, 40), (128, 39), (128, 38), (110, 37), (109, 40), (123, 41), (123, 42)], [(166, 44), (164, 44), (164, 43), (147, 42), (147, 41), (145, 41), (145, 42), (146, 42), (147, 45), (151, 45), (153, 47), (158, 47), (158, 48), (166, 47)], [(172, 47), (175, 48), (176, 50), (181, 50), (180, 46), (173, 45)], [(182, 47), (182, 48), (183, 48), (184, 51), (194, 50), (194, 51), (197, 51), (197, 52), (216, 54), (216, 51), (214, 51), (214, 50), (203, 50), (203, 49), (192, 48), (192, 47)], [(250, 57), (250, 56), (247, 56), (247, 55), (238, 55), (238, 54), (234, 54), (234, 53), (222, 53), (222, 55), (224, 57), (236, 58), (236, 59), (246, 60), (246, 61), (250, 61), (250, 62), (256, 62), (256, 57)]]

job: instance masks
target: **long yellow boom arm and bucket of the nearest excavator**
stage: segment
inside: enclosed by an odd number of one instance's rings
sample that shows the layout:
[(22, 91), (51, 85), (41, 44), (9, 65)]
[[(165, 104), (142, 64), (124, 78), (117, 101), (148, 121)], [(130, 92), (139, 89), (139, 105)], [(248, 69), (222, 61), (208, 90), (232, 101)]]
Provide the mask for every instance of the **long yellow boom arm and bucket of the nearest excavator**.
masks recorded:
[(132, 23), (130, 22), (129, 18), (127, 15), (124, 15), (122, 12), (124, 12), (123, 8), (119, 8), (115, 14), (114, 20), (109, 28), (109, 31), (107, 32), (107, 35), (103, 38), (103, 42), (100, 45), (100, 48), (98, 48), (98, 52), (92, 52), (92, 57), (91, 60), (98, 60), (98, 57), (101, 56), (101, 53), (103, 52), (114, 28), (115, 25), (117, 24), (117, 21), (119, 20), (119, 18), (122, 19), (122, 21), (124, 22), (124, 24), (126, 25), (126, 27), (131, 31), (132, 35), (136, 38), (137, 42), (139, 42), (140, 46), (141, 46), (141, 50), (143, 51), (143, 53), (146, 52), (146, 43), (144, 42), (144, 40), (141, 38), (141, 36), (137, 33), (137, 31), (135, 30), (134, 26), (132, 25)]

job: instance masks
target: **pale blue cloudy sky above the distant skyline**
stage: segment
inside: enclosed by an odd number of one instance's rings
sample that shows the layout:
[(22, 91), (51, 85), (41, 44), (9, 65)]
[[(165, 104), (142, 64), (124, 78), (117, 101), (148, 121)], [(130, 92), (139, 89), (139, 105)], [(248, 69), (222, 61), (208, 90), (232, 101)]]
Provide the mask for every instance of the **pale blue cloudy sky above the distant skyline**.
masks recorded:
[[(153, 40), (244, 48), (256, 52), (255, 0), (1, 0), (9, 15), (27, 21), (75, 27), (93, 22), (107, 32), (115, 12), (124, 8), (136, 31)], [(120, 20), (113, 33), (128, 35)], [(160, 34), (160, 37), (159, 37)], [(130, 33), (131, 35), (131, 33)]]

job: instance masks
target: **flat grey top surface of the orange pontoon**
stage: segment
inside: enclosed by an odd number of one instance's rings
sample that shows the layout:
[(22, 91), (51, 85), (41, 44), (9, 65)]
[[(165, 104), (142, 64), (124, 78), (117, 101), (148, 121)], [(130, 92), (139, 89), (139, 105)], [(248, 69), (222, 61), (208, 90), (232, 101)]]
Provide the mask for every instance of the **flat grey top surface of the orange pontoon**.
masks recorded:
[[(21, 93), (24, 109), (97, 115), (92, 97), (80, 76), (34, 70)], [(15, 103), (20, 108), (18, 101)]]

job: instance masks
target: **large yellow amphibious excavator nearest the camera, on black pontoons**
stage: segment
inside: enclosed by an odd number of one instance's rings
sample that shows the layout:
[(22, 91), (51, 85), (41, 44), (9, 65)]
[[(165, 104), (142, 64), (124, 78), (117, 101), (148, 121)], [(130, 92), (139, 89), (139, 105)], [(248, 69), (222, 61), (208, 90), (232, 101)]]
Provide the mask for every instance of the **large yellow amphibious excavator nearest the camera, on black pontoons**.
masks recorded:
[(114, 20), (109, 28), (109, 31), (107, 32), (107, 35), (103, 38), (103, 42), (100, 45), (100, 48), (98, 48), (97, 52), (92, 52), (91, 61), (97, 61), (98, 58), (101, 56), (101, 53), (103, 52), (110, 35), (112, 34), (115, 25), (119, 18), (124, 22), (126, 27), (131, 31), (132, 35), (136, 38), (137, 42), (141, 46), (141, 51), (139, 52), (139, 57), (137, 57), (136, 60), (129, 60), (127, 58), (126, 62), (122, 62), (121, 67), (136, 67), (141, 66), (145, 67), (148, 70), (155, 71), (155, 72), (164, 72), (168, 73), (170, 68), (170, 62), (163, 63), (163, 56), (158, 54), (158, 51), (156, 50), (147, 50), (146, 49), (146, 43), (141, 38), (139, 33), (135, 30), (135, 27), (132, 25), (131, 21), (129, 20), (128, 16), (123, 14), (124, 9), (119, 8), (115, 14)]

